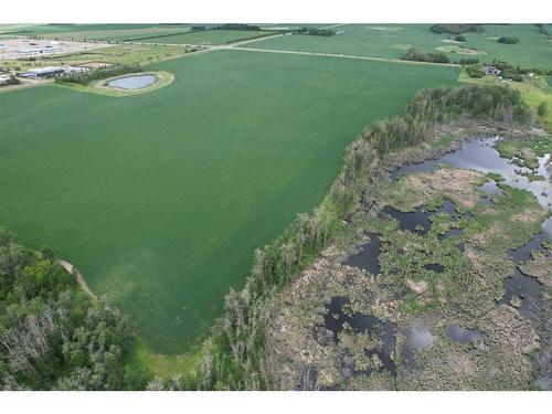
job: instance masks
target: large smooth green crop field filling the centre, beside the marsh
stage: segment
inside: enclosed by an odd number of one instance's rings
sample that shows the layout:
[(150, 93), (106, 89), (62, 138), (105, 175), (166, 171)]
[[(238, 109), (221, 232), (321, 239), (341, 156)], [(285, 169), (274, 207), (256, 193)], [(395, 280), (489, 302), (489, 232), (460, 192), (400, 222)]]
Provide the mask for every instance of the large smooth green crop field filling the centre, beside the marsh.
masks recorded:
[(320, 202), (367, 123), (458, 77), (245, 51), (149, 68), (174, 82), (129, 97), (0, 94), (0, 223), (74, 263), (166, 353), (201, 338), (253, 250)]

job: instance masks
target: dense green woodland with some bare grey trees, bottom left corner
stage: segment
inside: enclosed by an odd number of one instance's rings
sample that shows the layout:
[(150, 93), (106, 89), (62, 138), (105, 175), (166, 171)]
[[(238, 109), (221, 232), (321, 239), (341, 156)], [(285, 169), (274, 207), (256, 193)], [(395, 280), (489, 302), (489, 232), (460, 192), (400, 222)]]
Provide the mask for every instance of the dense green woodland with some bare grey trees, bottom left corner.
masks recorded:
[(50, 250), (24, 250), (0, 231), (0, 389), (134, 390), (125, 367), (127, 317), (89, 298)]

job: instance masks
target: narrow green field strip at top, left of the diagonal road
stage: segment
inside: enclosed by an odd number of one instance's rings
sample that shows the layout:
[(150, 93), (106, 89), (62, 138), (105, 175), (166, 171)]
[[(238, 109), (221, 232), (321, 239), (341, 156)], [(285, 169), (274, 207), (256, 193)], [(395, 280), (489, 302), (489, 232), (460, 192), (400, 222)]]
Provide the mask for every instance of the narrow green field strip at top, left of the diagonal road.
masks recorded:
[(274, 33), (243, 30), (204, 30), (200, 32), (189, 32), (162, 38), (144, 39), (141, 42), (166, 43), (166, 44), (224, 44), (237, 42), (240, 40), (263, 38)]

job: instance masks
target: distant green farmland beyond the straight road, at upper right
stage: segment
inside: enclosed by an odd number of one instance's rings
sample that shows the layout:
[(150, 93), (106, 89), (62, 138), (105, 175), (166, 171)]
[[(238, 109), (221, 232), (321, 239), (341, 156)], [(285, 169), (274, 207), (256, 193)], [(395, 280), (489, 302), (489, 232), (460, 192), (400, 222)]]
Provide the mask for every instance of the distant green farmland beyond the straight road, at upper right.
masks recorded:
[[(436, 34), (429, 24), (347, 24), (333, 30), (333, 36), (288, 35), (255, 42), (255, 47), (301, 52), (343, 53), (361, 56), (399, 59), (410, 47), (426, 52), (440, 50), (452, 61), (476, 57), (493, 59), (522, 66), (552, 67), (552, 46), (533, 24), (486, 25), (482, 34), (465, 34), (467, 42), (452, 43), (450, 34)], [(516, 36), (518, 44), (498, 43), (500, 36)], [(464, 52), (459, 46), (466, 47)], [(477, 51), (475, 51), (477, 50)], [(456, 51), (456, 53), (452, 53)], [(461, 53), (458, 53), (461, 52)]]

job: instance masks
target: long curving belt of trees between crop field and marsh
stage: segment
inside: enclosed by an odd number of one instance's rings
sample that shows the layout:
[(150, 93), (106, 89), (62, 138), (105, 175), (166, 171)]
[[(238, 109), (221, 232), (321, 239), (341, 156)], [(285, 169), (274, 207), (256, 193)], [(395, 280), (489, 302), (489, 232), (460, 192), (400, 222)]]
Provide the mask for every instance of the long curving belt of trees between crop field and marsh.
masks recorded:
[(242, 290), (231, 290), (208, 347), (203, 389), (270, 389), (266, 326), (276, 294), (305, 269), (335, 237), (363, 197), (370, 172), (392, 150), (424, 141), (439, 123), (481, 120), (530, 125), (533, 113), (517, 91), (500, 86), (424, 89), (401, 116), (370, 125), (347, 149), (329, 194), (311, 214), (298, 214), (274, 243), (255, 251)]

